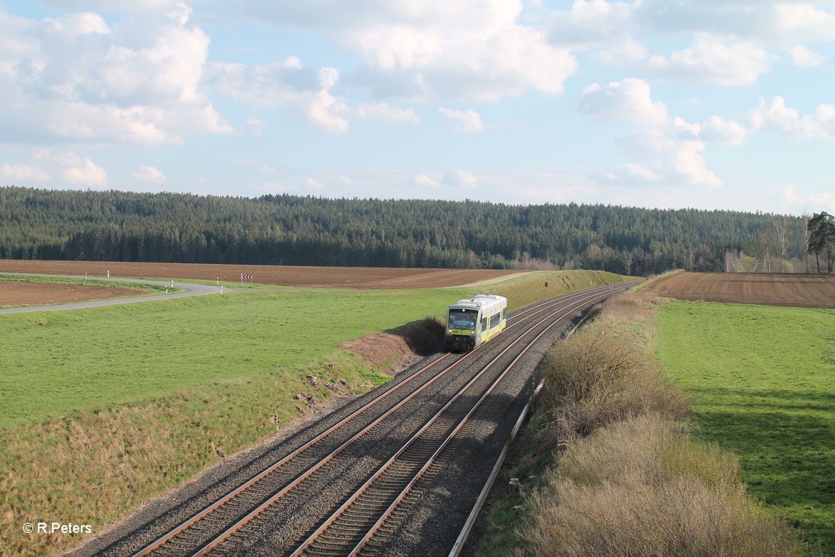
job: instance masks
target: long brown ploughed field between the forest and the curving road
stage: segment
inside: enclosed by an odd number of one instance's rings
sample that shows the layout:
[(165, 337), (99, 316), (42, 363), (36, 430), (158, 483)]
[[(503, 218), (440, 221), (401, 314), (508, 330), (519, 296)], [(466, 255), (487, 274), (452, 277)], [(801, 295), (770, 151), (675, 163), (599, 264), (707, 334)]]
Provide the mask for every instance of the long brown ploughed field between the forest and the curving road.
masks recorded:
[(302, 267), (267, 265), (204, 265), (200, 263), (119, 263), (107, 261), (0, 260), (0, 272), (240, 281), (251, 273), (253, 281), (281, 286), (325, 286), (360, 289), (437, 288), (488, 281), (519, 271), (483, 269), (401, 269), (391, 267)]

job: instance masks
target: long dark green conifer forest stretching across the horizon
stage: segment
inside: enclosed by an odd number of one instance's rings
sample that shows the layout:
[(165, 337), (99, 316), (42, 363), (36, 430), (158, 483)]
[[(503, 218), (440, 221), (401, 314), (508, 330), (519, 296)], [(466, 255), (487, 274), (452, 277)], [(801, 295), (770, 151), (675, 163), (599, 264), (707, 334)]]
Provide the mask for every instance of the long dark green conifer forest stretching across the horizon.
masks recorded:
[[(807, 271), (807, 220), (726, 210), (0, 187), (0, 258)], [(778, 259), (779, 258), (779, 259)], [(779, 262), (778, 262), (779, 261)], [(746, 268), (731, 268), (745, 264)]]

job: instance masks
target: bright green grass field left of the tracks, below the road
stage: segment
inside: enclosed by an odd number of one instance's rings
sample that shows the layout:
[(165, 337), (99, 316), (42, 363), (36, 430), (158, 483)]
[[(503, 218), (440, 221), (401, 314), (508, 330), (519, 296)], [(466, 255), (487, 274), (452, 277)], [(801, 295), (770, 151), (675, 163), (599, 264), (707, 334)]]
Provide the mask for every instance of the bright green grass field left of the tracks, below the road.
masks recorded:
[[(287, 291), (0, 318), (0, 428), (297, 367), (467, 291)], [(458, 296), (458, 297), (457, 297)]]

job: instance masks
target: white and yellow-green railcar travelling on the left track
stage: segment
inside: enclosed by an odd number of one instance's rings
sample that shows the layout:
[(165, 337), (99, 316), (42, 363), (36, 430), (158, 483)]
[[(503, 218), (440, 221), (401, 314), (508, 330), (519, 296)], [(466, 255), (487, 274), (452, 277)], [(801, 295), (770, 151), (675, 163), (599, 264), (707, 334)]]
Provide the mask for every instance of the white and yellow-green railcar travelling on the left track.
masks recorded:
[(504, 331), (508, 299), (495, 294), (477, 294), (447, 308), (444, 341), (451, 352), (469, 352)]

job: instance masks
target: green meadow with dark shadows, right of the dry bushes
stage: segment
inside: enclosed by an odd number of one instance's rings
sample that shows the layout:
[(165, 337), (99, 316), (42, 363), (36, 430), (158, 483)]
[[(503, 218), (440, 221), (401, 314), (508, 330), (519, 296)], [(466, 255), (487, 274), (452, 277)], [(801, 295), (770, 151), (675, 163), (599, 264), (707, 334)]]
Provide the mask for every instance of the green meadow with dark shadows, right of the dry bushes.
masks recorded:
[(835, 554), (835, 311), (675, 302), (658, 355), (751, 494)]

